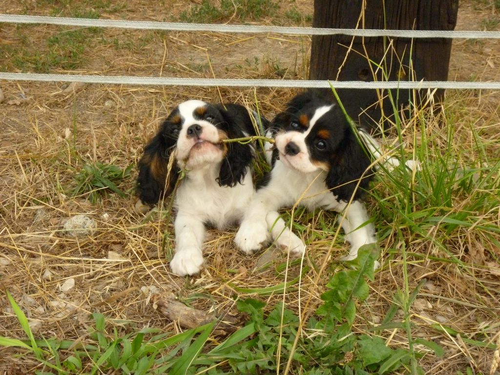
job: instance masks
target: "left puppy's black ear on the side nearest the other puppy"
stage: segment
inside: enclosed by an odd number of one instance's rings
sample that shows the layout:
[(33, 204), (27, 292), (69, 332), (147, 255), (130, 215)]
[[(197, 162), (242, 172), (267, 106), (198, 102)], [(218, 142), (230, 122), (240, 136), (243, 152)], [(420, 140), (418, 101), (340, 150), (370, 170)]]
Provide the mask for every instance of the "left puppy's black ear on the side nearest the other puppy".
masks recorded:
[[(253, 124), (248, 111), (243, 106), (226, 105), (227, 110), (220, 108), (220, 114), (228, 124), (227, 137), (242, 138), (255, 135)], [(245, 134), (243, 130), (251, 130), (251, 133)], [(239, 142), (230, 142), (225, 144), (227, 152), (220, 166), (217, 182), (220, 186), (234, 186), (236, 183), (243, 182), (248, 167), (253, 159), (253, 150), (250, 142), (242, 144)]]

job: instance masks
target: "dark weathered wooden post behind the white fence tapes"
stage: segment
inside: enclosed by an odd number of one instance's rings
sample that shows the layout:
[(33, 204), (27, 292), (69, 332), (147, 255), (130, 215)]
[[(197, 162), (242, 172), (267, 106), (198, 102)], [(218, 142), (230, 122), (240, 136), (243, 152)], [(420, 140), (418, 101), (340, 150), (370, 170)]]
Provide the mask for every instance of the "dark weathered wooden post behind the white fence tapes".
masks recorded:
[[(458, 0), (314, 0), (313, 27), (453, 30)], [(349, 46), (351, 45), (349, 51)], [(446, 80), (451, 39), (352, 37), (314, 35), (311, 44), (310, 79), (330, 80)], [(385, 56), (385, 57), (384, 57)], [(372, 61), (386, 69), (382, 76)], [(324, 92), (326, 92), (325, 90)], [(393, 113), (387, 91), (372, 89), (337, 90), (349, 115), (372, 128), (385, 115)], [(395, 97), (395, 90), (392, 90)], [(420, 92), (423, 101), (427, 90)], [(385, 97), (379, 101), (379, 95)], [(444, 90), (434, 93), (439, 102)], [(413, 101), (411, 90), (399, 90), (398, 108)], [(380, 105), (381, 103), (381, 105)], [(419, 100), (417, 99), (417, 104)], [(383, 125), (382, 125), (383, 126)], [(385, 124), (385, 127), (387, 125)]]

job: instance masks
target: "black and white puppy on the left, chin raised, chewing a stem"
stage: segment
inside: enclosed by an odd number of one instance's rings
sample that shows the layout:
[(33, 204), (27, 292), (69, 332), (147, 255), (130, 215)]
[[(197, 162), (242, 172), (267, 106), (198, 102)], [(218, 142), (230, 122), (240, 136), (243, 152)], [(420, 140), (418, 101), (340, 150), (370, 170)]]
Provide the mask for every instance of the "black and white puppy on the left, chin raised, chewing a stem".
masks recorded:
[[(256, 115), (252, 119), (239, 104), (188, 100), (168, 115), (146, 145), (137, 178), (143, 203), (154, 204), (169, 195), (179, 171), (185, 172), (175, 196), (173, 273), (183, 276), (201, 269), (205, 224), (221, 229), (241, 220), (254, 193), (253, 146), (222, 140), (255, 135), (255, 122)], [(175, 163), (168, 172), (172, 152)]]

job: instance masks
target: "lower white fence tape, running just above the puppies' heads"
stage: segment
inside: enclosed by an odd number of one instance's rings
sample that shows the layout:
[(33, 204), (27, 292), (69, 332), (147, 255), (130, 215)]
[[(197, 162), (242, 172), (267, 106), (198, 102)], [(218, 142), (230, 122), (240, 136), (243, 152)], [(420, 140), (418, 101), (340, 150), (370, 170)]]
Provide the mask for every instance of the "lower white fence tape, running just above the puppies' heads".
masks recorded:
[(227, 78), (167, 78), (110, 75), (34, 74), (0, 72), (0, 79), (31, 81), (64, 81), (85, 83), (112, 83), (137, 85), (179, 85), (179, 86), (239, 86), (239, 87), (330, 87), (335, 88), (468, 88), (500, 89), (500, 82), (449, 82), (449, 81), (327, 81), (290, 79), (227, 79)]

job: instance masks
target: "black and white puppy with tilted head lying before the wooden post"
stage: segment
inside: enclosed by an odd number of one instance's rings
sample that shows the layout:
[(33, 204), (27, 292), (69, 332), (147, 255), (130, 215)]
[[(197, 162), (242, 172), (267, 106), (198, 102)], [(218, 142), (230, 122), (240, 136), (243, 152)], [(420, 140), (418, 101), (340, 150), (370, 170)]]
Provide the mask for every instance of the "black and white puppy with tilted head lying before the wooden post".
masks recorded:
[[(343, 212), (339, 222), (350, 242), (343, 259), (355, 258), (361, 245), (376, 242), (362, 197), (375, 172), (370, 153), (374, 157), (381, 154), (376, 141), (363, 129), (358, 130), (370, 152), (361, 145), (338, 105), (311, 91), (288, 102), (271, 123), (268, 136), (274, 137), (275, 147), (273, 151), (268, 147), (266, 156), (272, 170), (245, 211), (234, 237), (236, 245), (245, 253), (260, 249), (269, 240), (269, 219), (278, 215), (279, 208), (296, 202), (311, 210)], [(398, 164), (393, 158), (385, 162)], [(276, 222), (272, 230), (283, 230), (279, 225)], [(298, 237), (289, 231), (282, 236), (285, 234), (281, 240), (288, 240), (295, 252), (305, 249)]]

